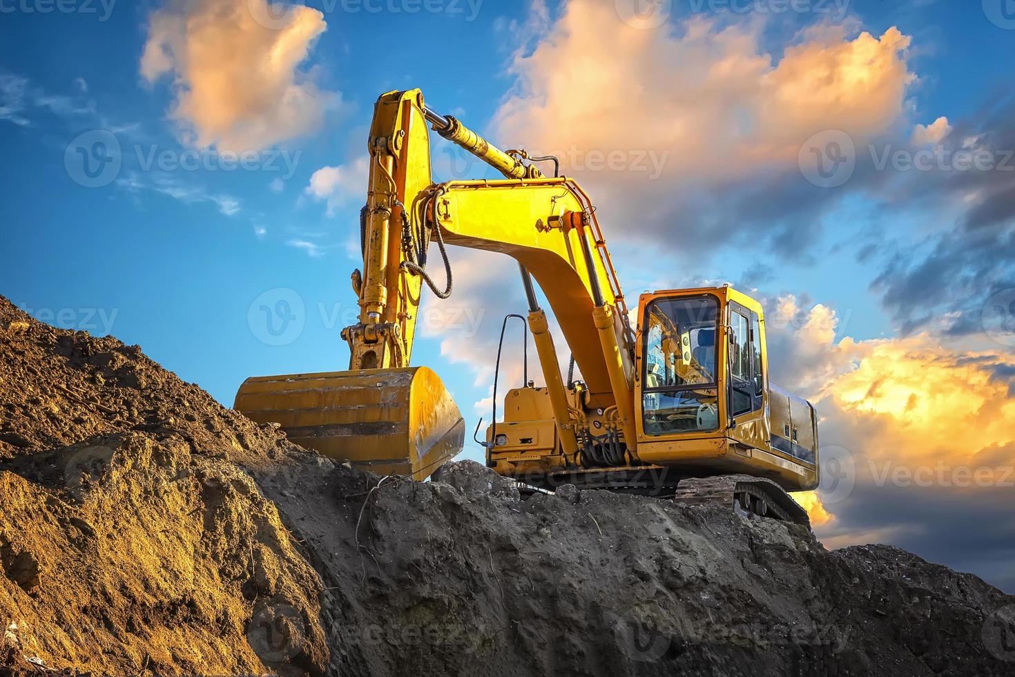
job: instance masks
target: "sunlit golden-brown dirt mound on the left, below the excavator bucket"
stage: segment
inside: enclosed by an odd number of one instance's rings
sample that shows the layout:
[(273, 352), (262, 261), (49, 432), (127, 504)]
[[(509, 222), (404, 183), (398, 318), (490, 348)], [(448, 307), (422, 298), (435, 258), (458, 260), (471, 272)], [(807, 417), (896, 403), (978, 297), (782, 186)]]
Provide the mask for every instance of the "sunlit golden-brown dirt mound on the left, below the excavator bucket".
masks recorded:
[(3, 298), (0, 341), (0, 665), (323, 672), (320, 578), (236, 465), (316, 458), (137, 346)]

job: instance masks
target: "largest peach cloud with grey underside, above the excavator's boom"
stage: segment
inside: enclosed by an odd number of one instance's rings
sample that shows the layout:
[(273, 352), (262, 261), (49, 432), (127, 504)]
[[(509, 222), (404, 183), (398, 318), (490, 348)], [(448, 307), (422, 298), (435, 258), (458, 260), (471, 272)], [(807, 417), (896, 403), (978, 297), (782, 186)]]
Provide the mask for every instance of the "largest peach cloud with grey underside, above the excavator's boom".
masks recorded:
[(559, 154), (603, 213), (645, 224), (640, 236), (693, 231), (689, 255), (756, 236), (759, 221), (762, 235), (805, 246), (818, 228), (792, 212), (837, 196), (802, 180), (801, 145), (827, 129), (860, 144), (902, 127), (910, 39), (822, 24), (777, 59), (763, 30), (701, 17), (639, 30), (610, 3), (570, 2), (514, 58), (494, 138)]

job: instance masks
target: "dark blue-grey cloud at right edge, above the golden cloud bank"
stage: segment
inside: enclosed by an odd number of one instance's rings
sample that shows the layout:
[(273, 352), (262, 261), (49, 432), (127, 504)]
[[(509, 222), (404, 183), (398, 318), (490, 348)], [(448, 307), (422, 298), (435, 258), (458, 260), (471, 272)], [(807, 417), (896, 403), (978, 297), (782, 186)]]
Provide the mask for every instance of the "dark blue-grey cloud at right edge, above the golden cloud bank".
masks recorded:
[(893, 248), (872, 288), (903, 332), (965, 336), (984, 331), (992, 295), (1015, 288), (1015, 99), (957, 122), (935, 156), (929, 171), (885, 179), (934, 230)]

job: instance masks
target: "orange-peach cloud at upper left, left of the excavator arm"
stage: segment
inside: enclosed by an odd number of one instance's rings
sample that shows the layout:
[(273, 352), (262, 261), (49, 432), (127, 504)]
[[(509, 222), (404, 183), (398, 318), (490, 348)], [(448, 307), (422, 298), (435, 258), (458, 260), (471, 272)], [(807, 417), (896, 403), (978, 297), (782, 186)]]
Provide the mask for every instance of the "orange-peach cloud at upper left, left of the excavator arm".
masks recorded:
[[(171, 0), (151, 13), (141, 57), (149, 83), (172, 76), (171, 117), (187, 142), (220, 150), (260, 150), (316, 130), (340, 97), (299, 69), (324, 15), (288, 8), (287, 25), (267, 27), (267, 0)], [(257, 6), (257, 7), (255, 7)]]

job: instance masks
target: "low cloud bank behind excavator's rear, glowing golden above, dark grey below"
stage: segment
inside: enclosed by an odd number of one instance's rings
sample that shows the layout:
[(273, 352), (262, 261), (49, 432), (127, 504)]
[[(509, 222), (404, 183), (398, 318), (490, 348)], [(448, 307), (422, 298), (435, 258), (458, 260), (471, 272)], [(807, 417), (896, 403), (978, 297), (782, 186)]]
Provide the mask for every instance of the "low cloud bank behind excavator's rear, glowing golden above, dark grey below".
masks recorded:
[(1015, 589), (1015, 358), (926, 333), (835, 340), (827, 307), (794, 296), (774, 307), (772, 380), (815, 403), (822, 453), (837, 450), (855, 482), (843, 492), (843, 464), (823, 466), (822, 490), (802, 497), (819, 538), (890, 541)]

